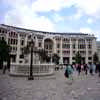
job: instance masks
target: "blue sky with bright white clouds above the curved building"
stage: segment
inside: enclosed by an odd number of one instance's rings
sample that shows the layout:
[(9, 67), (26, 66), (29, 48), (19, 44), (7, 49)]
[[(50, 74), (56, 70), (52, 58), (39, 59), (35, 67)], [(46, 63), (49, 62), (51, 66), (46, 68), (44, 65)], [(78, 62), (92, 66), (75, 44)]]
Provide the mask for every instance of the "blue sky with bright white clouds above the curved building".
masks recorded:
[(83, 32), (100, 40), (100, 0), (0, 0), (0, 24), (49, 32)]

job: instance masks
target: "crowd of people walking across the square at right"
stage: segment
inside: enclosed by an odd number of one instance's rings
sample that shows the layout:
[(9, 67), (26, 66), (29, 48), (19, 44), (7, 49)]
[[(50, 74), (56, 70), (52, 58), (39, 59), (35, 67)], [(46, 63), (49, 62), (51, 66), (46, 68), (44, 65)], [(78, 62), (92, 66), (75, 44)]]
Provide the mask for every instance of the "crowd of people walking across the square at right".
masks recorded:
[(81, 73), (88, 75), (90, 73), (90, 75), (93, 76), (95, 73), (98, 73), (98, 76), (100, 77), (100, 63), (73, 64), (73, 65), (66, 64), (65, 66), (66, 68), (65, 68), (64, 75), (66, 78), (70, 78), (72, 80), (73, 80), (74, 71), (77, 71), (78, 75), (80, 75)]

